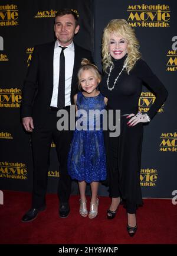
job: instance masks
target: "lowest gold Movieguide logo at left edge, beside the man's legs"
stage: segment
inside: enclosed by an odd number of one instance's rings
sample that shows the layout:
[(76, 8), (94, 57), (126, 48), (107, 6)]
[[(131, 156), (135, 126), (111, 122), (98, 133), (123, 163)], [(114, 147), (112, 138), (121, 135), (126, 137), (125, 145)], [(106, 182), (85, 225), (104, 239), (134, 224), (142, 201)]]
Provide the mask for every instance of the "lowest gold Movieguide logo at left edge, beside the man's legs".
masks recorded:
[(27, 167), (19, 162), (0, 162), (0, 178), (27, 180)]

